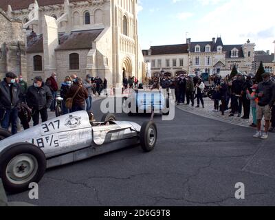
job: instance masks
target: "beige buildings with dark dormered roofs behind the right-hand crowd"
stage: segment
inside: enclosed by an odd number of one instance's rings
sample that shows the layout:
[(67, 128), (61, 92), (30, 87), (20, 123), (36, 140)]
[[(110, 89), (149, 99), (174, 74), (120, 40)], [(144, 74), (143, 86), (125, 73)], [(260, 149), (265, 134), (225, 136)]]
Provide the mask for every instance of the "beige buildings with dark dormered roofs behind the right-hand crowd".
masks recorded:
[[(171, 76), (184, 74), (230, 74), (234, 65), (240, 72), (252, 73), (254, 62), (254, 43), (247, 41), (243, 45), (224, 45), (221, 37), (212, 41), (186, 44), (164, 45), (143, 50), (144, 60), (151, 63), (151, 72), (170, 72)], [(157, 60), (162, 59), (162, 67)], [(170, 64), (170, 67), (167, 66)]]

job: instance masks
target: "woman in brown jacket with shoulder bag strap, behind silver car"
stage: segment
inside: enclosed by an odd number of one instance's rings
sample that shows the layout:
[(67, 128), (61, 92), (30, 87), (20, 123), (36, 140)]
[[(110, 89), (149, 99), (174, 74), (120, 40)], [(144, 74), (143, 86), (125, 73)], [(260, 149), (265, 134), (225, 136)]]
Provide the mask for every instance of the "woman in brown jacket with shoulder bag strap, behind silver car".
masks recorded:
[(72, 112), (85, 110), (86, 99), (88, 98), (88, 92), (83, 87), (83, 80), (76, 78), (76, 81), (66, 95), (66, 107), (72, 109)]

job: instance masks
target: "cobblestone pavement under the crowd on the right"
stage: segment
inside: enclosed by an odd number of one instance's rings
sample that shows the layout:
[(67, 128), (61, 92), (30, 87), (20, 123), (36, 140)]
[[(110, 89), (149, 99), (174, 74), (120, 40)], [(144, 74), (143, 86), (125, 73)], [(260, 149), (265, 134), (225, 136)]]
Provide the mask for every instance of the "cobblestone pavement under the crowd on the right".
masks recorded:
[[(214, 112), (214, 101), (210, 100), (209, 98), (204, 99), (204, 107), (200, 107), (199, 109), (196, 108), (197, 106), (197, 100), (195, 100), (195, 107), (192, 107), (191, 105), (186, 104), (180, 104), (176, 105), (178, 109), (181, 109), (182, 111), (187, 111), (188, 113), (192, 113), (195, 115), (200, 115), (205, 118), (210, 118), (213, 120), (218, 120), (220, 122), (226, 122), (230, 124), (235, 124), (238, 126), (245, 126), (248, 127), (250, 124), (252, 124), (252, 115), (250, 115), (250, 120), (243, 120), (241, 118), (237, 117), (237, 114), (234, 115), (234, 117), (229, 117), (230, 113), (225, 113), (225, 115), (221, 115), (221, 112)], [(242, 115), (243, 116), (243, 115)]]

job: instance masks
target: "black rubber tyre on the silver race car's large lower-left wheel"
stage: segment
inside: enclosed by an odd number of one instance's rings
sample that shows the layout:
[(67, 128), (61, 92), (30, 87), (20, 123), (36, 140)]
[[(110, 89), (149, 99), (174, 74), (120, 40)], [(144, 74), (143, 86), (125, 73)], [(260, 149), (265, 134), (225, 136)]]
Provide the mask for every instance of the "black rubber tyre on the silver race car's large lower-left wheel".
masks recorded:
[[(12, 177), (8, 177), (7, 168), (8, 165), (12, 162), (12, 159), (15, 159), (16, 157), (19, 157), (21, 155), (29, 156), (29, 158), (32, 157), (32, 159), (35, 159), (36, 162), (34, 162), (34, 170), (31, 171), (32, 173), (30, 173), (28, 177), (25, 177), (25, 179), (22, 178), (22, 182), (19, 182), (17, 179), (12, 179)], [(21, 162), (18, 163), (21, 164)], [(14, 164), (14, 166), (17, 164)], [(0, 178), (3, 181), (3, 186), (5, 190), (7, 190), (8, 192), (23, 192), (25, 190), (28, 190), (30, 183), (39, 183), (45, 173), (46, 166), (47, 165), (45, 154), (43, 153), (43, 151), (41, 151), (39, 147), (30, 143), (13, 144), (12, 146), (4, 150), (0, 155)], [(25, 170), (21, 172), (24, 171)]]

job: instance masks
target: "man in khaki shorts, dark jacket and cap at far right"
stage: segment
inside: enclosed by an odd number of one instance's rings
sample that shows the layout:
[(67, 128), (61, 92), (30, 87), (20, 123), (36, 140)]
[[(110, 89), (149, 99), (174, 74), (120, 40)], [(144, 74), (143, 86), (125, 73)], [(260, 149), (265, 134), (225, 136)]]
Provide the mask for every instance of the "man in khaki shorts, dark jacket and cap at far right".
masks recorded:
[[(272, 118), (272, 108), (275, 103), (275, 83), (270, 80), (270, 74), (263, 74), (263, 82), (259, 83), (256, 89), (256, 97), (259, 98), (257, 105), (257, 132), (253, 137), (261, 137), (265, 140), (268, 138), (270, 129), (270, 120)], [(265, 116), (265, 131), (261, 131), (261, 121)]]

